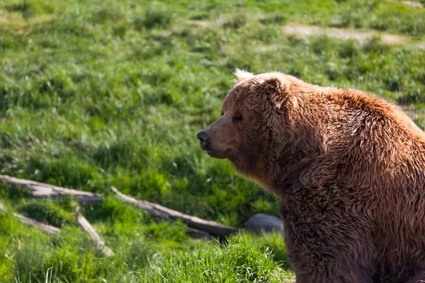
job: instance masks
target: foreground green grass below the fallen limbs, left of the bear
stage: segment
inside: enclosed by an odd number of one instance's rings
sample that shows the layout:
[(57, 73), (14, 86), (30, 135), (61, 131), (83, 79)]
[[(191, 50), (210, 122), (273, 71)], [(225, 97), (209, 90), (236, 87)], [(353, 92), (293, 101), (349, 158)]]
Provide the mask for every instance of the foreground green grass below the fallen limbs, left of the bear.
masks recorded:
[[(73, 210), (69, 203), (44, 204), (49, 211), (59, 206)], [(278, 282), (293, 276), (277, 233), (240, 234), (222, 244), (193, 240), (181, 223), (154, 222), (113, 199), (83, 214), (115, 252), (111, 258), (73, 224), (47, 236), (11, 214), (0, 214), (0, 282), (44, 282), (50, 267), (53, 282)]]

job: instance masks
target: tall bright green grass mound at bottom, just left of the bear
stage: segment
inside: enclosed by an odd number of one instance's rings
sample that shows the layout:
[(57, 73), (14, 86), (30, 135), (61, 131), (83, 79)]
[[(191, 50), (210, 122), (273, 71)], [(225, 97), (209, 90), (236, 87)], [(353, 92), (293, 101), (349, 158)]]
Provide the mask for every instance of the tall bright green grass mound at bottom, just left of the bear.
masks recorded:
[(273, 260), (271, 250), (260, 246), (256, 238), (241, 235), (196, 254), (177, 253), (154, 266), (141, 282), (287, 282), (291, 278)]

